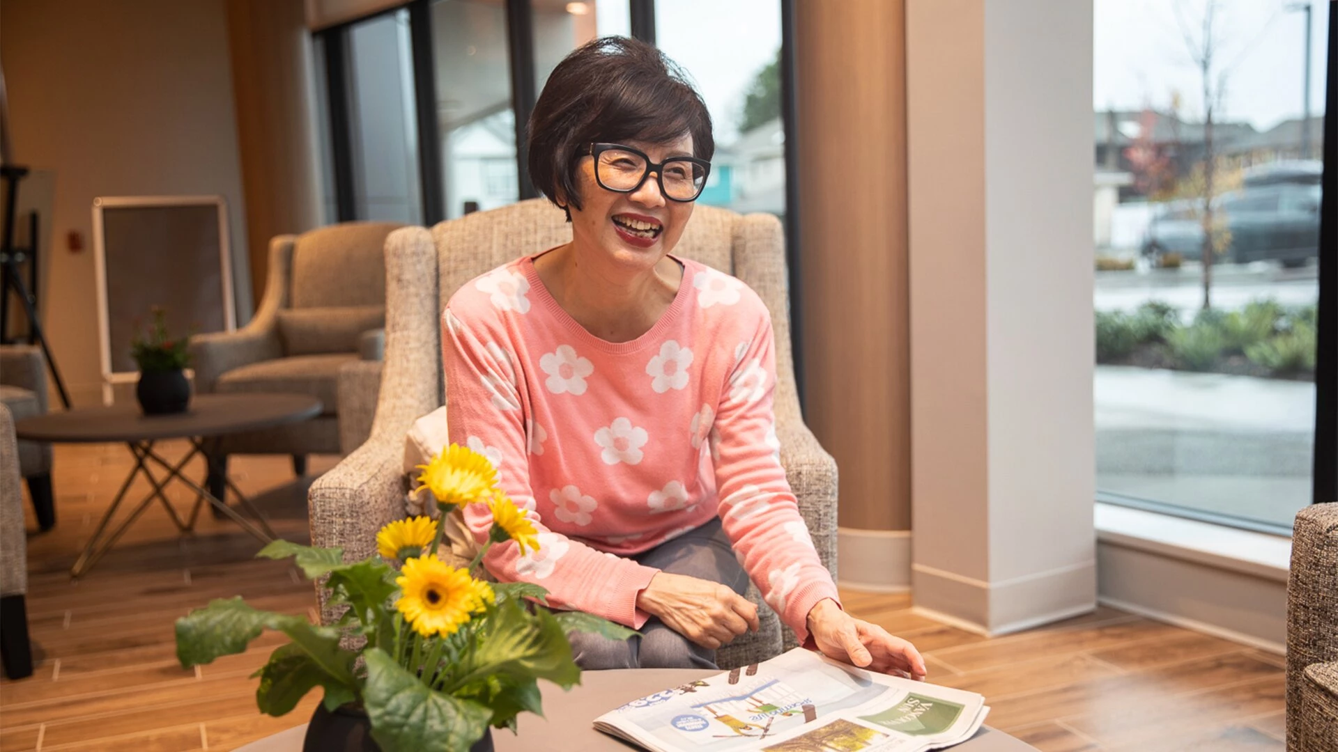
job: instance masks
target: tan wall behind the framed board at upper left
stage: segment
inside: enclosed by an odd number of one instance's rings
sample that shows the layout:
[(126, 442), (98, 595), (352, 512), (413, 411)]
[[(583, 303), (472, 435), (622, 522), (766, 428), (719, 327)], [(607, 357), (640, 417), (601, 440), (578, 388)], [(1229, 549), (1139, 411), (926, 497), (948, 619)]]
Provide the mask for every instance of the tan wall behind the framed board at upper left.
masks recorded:
[[(94, 197), (222, 194), (250, 317), (223, 0), (3, 0), (0, 19), (15, 159), (55, 173), (47, 337), (71, 396), (95, 403)], [(71, 231), (83, 250), (67, 249)]]

